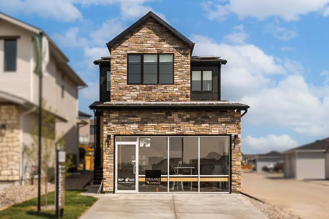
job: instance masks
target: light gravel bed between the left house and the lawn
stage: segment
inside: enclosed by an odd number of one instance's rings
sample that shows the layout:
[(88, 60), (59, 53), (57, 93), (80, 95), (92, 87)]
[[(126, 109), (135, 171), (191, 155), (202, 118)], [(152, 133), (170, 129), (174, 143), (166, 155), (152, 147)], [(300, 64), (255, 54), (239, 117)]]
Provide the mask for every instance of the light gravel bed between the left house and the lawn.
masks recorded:
[[(55, 191), (55, 185), (47, 186), (48, 192)], [(41, 185), (41, 194), (44, 194), (44, 185)], [(27, 201), (38, 196), (38, 185), (11, 186), (0, 191), (0, 210)]]

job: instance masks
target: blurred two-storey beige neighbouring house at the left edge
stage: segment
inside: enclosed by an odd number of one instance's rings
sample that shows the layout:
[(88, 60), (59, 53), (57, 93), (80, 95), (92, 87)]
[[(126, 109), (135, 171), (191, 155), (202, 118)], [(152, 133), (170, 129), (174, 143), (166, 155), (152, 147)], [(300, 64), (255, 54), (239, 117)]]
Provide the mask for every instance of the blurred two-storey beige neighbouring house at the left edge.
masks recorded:
[[(38, 76), (33, 33), (41, 29), (0, 13), (0, 181), (18, 181), (29, 176), (24, 148), (31, 145), (33, 120), (38, 124)], [(87, 84), (68, 65), (68, 58), (43, 32), (48, 48), (42, 94), (55, 118), (57, 137), (79, 163), (78, 91)]]

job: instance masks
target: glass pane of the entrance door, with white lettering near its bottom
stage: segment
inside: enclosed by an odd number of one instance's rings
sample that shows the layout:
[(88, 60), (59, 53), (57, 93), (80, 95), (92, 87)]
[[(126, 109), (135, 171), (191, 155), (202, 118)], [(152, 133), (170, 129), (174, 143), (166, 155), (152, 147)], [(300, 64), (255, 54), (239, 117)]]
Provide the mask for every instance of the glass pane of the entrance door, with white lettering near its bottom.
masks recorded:
[(118, 144), (117, 146), (117, 189), (135, 190), (136, 174), (136, 145)]

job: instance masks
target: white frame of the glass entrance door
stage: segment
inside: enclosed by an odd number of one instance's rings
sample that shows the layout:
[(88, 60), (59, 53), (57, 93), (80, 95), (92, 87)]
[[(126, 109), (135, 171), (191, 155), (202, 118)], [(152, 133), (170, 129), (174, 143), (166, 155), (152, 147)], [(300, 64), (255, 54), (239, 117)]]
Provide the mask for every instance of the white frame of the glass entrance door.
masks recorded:
[[(118, 145), (135, 145), (135, 190), (118, 190)], [(137, 193), (138, 191), (138, 142), (115, 142), (115, 193)]]

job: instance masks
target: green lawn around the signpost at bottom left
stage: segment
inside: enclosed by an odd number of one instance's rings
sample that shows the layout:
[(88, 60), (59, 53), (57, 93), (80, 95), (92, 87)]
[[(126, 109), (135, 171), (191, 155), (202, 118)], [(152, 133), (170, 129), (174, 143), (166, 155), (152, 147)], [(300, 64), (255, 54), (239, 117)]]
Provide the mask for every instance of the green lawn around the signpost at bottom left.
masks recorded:
[[(98, 198), (91, 196), (82, 196), (85, 190), (66, 190), (64, 217), (67, 219), (77, 219), (83, 212), (92, 206)], [(55, 193), (48, 193), (48, 205), (54, 205)], [(21, 204), (13, 205), (3, 211), (0, 211), (1, 219), (43, 219), (55, 218), (55, 210), (41, 210), (38, 212), (36, 206), (38, 198), (33, 198)], [(44, 195), (41, 196), (41, 206), (44, 205)]]

